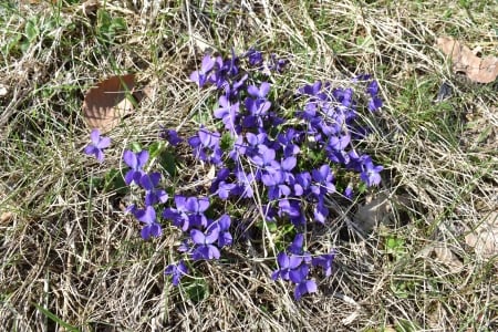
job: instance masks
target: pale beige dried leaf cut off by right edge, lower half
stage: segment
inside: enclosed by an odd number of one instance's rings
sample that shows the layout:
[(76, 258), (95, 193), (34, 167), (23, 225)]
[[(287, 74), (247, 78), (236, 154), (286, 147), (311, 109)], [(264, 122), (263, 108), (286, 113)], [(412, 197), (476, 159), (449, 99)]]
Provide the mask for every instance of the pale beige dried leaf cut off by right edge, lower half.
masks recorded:
[(465, 242), (481, 258), (498, 255), (498, 211), (490, 212), (476, 230), (467, 234)]

